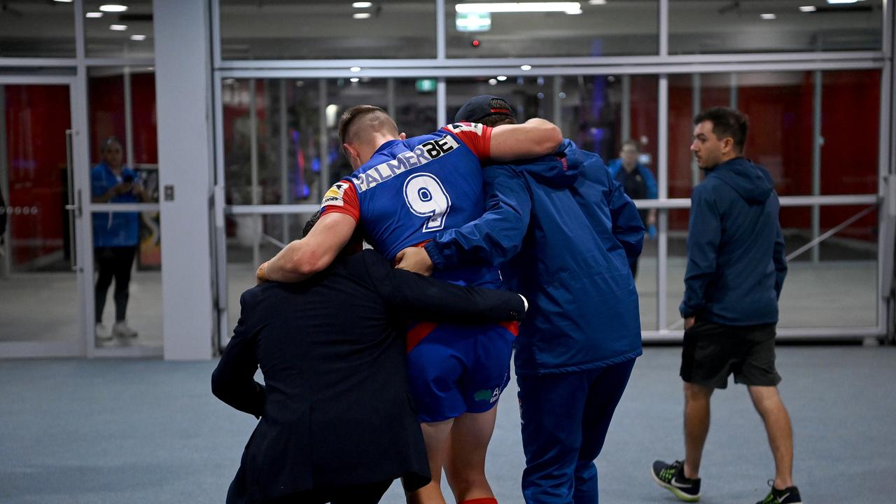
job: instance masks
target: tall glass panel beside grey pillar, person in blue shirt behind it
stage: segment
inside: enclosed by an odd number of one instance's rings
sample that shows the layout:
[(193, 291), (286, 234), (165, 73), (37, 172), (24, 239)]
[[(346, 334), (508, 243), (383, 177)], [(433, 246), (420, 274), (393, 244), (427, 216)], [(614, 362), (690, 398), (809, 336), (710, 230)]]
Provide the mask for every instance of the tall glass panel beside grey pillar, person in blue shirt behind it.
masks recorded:
[(94, 343), (159, 348), (159, 212), (102, 209), (159, 201), (155, 74), (147, 67), (90, 67), (88, 95)]

